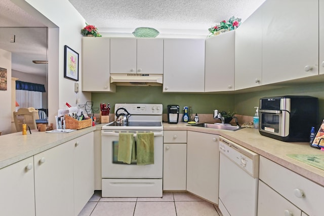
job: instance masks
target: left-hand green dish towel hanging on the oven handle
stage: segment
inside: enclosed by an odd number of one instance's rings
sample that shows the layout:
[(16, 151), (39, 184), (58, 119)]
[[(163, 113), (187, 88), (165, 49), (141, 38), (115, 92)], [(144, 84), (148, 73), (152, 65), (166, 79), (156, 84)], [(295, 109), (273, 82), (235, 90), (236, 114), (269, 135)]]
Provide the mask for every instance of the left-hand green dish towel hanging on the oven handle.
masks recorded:
[(117, 161), (131, 164), (135, 156), (134, 133), (119, 133)]

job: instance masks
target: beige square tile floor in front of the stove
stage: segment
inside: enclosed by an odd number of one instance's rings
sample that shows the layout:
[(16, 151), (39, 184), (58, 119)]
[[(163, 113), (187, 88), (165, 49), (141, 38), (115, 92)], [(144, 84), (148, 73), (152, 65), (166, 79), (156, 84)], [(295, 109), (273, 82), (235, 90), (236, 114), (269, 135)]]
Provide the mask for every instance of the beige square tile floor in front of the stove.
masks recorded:
[(164, 192), (162, 198), (104, 198), (101, 191), (79, 216), (222, 216), (217, 206), (186, 192)]

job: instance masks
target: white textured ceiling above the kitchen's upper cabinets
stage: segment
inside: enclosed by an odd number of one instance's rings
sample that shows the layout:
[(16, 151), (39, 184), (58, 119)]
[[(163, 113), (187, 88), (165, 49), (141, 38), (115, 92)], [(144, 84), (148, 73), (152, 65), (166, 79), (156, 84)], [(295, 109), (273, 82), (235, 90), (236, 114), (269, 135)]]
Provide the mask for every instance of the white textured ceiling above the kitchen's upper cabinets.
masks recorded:
[(205, 30), (235, 16), (244, 21), (265, 0), (69, 0), (89, 24), (104, 28)]

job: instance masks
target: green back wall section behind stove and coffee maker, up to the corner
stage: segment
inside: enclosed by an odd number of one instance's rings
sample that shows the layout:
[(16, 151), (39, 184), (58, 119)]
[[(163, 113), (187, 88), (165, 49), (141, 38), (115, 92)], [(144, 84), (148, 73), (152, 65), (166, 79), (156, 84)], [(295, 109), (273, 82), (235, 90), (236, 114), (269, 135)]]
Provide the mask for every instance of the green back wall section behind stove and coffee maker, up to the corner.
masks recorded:
[(94, 107), (100, 103), (110, 103), (111, 111), (115, 103), (162, 103), (163, 113), (167, 113), (168, 104), (191, 106), (192, 113), (213, 114), (214, 110), (234, 109), (233, 94), (207, 93), (163, 93), (161, 86), (117, 86), (116, 93), (92, 93)]

